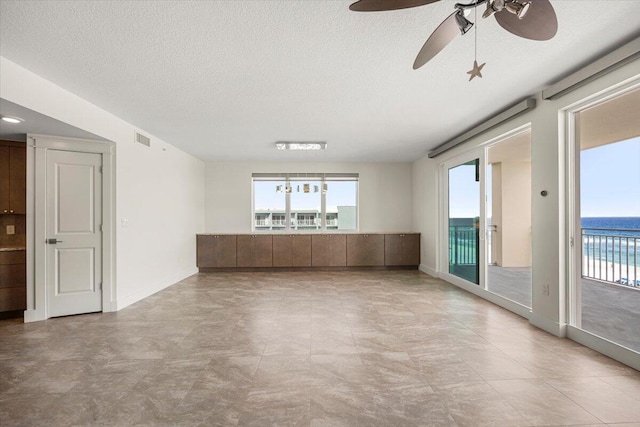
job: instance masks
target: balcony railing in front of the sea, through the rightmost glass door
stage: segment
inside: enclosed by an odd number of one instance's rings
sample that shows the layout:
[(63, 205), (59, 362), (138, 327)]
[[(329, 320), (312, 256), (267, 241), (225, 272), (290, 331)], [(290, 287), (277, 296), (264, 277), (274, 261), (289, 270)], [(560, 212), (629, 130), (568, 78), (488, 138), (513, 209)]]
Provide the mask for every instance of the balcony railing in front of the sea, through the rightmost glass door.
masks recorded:
[(640, 289), (640, 230), (582, 229), (582, 277)]

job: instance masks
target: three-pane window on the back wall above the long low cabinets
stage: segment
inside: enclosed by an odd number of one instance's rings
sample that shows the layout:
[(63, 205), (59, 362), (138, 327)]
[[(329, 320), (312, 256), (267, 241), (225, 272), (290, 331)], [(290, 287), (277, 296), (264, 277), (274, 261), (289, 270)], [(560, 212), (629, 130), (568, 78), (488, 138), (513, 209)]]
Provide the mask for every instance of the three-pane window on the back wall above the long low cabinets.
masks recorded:
[(255, 231), (358, 229), (358, 174), (256, 173), (252, 178)]

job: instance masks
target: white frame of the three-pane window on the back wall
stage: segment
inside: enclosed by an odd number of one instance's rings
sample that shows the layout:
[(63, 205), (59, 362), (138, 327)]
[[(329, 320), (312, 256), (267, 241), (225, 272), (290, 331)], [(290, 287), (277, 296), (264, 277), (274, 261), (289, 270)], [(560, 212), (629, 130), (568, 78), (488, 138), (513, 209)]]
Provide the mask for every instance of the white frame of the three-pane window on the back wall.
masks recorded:
[[(292, 220), (294, 219), (293, 214), (295, 212), (291, 209), (291, 194), (295, 191), (294, 185), (297, 183), (301, 183), (302, 180), (308, 179), (310, 181), (319, 182), (320, 185), (320, 211), (318, 212), (320, 219), (320, 228), (316, 230), (297, 230), (295, 226), (292, 226)], [(256, 181), (273, 181), (275, 182), (284, 182), (284, 197), (285, 197), (285, 225), (284, 228), (279, 228), (274, 230), (271, 227), (270, 230), (265, 230), (263, 228), (256, 228), (256, 194), (255, 194), (255, 182)], [(355, 182), (355, 228), (354, 229), (337, 229), (337, 228), (327, 228), (327, 193), (323, 191), (324, 185), (330, 183), (332, 181), (351, 181)], [(310, 185), (313, 188), (315, 182), (312, 182)], [(291, 188), (290, 192), (286, 191), (286, 188)], [(265, 232), (265, 233), (292, 233), (292, 232), (300, 232), (300, 233), (308, 233), (308, 232), (323, 232), (323, 233), (340, 233), (345, 231), (357, 232), (360, 228), (360, 215), (359, 215), (359, 174), (358, 173), (253, 173), (251, 175), (251, 231), (252, 232)], [(275, 188), (274, 188), (275, 191)], [(282, 215), (278, 212), (278, 215)], [(306, 214), (305, 214), (306, 215)], [(309, 214), (311, 215), (311, 214)], [(315, 215), (315, 214), (314, 214)], [(273, 214), (271, 214), (273, 217)], [(297, 218), (297, 214), (296, 214)], [(316, 217), (318, 218), (318, 217)], [(287, 220), (289, 219), (289, 220)], [(338, 219), (339, 220), (339, 219)]]

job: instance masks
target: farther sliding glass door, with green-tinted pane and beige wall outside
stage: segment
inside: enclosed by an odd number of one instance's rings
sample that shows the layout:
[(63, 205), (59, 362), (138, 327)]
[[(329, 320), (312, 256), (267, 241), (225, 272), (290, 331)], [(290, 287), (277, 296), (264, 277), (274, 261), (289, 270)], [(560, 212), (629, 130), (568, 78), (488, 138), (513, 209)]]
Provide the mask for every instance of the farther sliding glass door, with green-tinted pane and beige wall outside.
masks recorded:
[(531, 307), (531, 130), (443, 162), (440, 173), (443, 277)]

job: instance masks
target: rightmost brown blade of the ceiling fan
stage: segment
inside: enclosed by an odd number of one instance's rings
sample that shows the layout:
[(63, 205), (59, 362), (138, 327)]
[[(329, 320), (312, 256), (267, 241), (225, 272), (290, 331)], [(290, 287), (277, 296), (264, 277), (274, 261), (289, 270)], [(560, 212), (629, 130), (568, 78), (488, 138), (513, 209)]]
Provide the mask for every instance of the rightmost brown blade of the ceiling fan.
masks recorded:
[(558, 17), (549, 0), (530, 0), (529, 11), (522, 19), (506, 9), (495, 14), (505, 30), (530, 40), (549, 40), (558, 32)]

